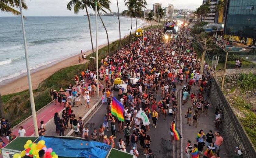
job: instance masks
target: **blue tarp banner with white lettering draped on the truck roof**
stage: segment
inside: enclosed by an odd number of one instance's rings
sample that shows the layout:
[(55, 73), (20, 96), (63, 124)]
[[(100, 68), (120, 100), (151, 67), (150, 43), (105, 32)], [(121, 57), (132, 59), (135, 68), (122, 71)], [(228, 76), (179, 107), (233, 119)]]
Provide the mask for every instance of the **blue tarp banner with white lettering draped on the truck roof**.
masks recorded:
[(82, 139), (41, 136), (38, 138), (38, 141), (40, 140), (44, 140), (47, 148), (52, 148), (62, 157), (105, 158), (111, 149), (111, 146), (105, 143)]

